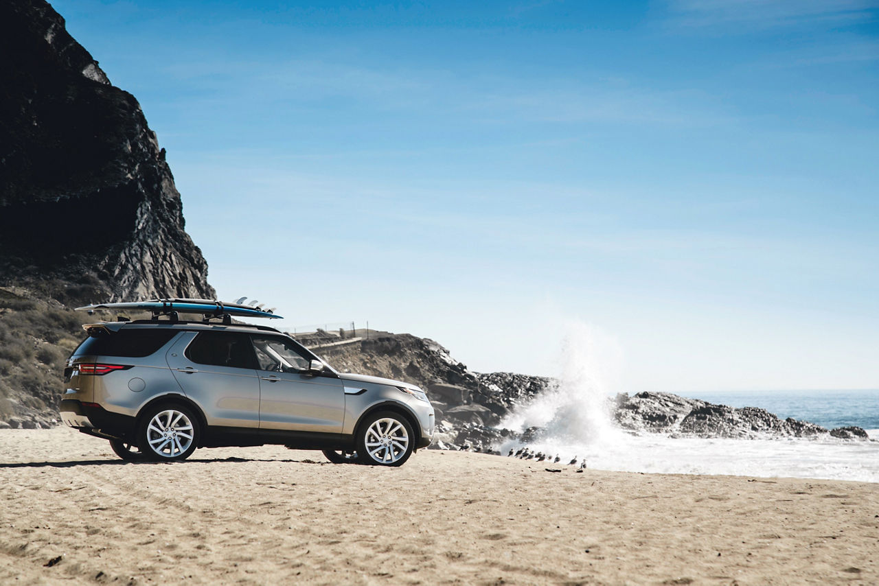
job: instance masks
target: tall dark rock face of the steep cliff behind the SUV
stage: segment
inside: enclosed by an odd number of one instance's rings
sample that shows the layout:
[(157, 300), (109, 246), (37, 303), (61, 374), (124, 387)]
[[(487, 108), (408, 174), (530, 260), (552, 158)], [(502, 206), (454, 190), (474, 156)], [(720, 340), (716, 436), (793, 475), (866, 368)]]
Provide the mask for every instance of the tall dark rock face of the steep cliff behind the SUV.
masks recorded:
[(0, 3), (0, 285), (65, 302), (213, 298), (134, 96), (43, 0)]

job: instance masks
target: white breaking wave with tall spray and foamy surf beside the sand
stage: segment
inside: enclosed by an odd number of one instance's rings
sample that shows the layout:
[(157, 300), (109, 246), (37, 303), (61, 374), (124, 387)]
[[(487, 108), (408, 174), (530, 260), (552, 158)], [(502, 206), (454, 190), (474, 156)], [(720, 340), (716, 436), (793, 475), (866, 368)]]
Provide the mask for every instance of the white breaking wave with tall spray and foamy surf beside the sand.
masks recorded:
[[(545, 430), (524, 443), (507, 441), (506, 454), (527, 445), (561, 463), (621, 472), (734, 474), (879, 482), (879, 442), (837, 438), (670, 438), (632, 434), (613, 423), (621, 351), (611, 336), (583, 323), (563, 338), (554, 387), (514, 409), (499, 427)], [(868, 430), (876, 438), (876, 430)]]

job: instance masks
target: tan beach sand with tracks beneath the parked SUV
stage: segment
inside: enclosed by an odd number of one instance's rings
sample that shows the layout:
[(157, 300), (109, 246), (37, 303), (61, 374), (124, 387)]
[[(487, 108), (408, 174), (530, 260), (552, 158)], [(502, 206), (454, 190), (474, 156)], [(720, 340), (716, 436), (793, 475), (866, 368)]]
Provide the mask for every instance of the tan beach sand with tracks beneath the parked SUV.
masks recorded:
[(858, 482), (280, 446), (127, 464), (58, 428), (0, 430), (0, 496), (3, 584), (879, 582), (879, 485)]

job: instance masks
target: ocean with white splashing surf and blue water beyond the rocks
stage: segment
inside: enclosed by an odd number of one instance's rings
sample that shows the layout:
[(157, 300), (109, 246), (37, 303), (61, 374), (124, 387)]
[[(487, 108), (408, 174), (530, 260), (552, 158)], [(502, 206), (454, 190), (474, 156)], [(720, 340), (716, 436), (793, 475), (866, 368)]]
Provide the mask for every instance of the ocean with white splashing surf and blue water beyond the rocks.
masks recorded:
[[(671, 438), (621, 430), (611, 420), (607, 397), (617, 389), (608, 384), (607, 360), (600, 340), (580, 330), (563, 347), (559, 386), (533, 402), (513, 409), (500, 427), (547, 430), (528, 445), (562, 463), (585, 459), (600, 470), (665, 474), (733, 474), (752, 477), (793, 477), (879, 482), (879, 391), (682, 394), (730, 405), (759, 407), (782, 418), (817, 423), (825, 428), (855, 425), (868, 441), (832, 438)], [(522, 444), (498, 445), (502, 453)]]

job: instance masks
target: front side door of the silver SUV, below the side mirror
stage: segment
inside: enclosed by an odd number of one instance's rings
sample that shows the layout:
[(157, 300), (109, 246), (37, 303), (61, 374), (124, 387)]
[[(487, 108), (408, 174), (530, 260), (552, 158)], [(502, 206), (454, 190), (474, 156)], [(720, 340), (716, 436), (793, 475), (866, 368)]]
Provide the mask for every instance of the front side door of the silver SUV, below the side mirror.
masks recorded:
[(259, 429), (341, 433), (345, 389), (329, 371), (310, 374), (311, 356), (289, 338), (253, 335), (259, 372)]

